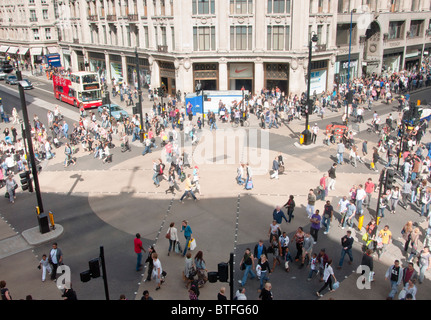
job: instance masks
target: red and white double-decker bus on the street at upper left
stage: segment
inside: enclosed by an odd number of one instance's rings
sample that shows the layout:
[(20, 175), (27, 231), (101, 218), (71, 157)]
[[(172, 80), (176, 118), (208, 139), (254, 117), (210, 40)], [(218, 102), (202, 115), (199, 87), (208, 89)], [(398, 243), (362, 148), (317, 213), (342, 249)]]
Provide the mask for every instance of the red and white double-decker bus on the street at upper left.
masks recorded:
[(81, 104), (85, 109), (102, 105), (102, 90), (96, 72), (72, 72), (68, 76), (54, 75), (54, 96), (75, 107)]

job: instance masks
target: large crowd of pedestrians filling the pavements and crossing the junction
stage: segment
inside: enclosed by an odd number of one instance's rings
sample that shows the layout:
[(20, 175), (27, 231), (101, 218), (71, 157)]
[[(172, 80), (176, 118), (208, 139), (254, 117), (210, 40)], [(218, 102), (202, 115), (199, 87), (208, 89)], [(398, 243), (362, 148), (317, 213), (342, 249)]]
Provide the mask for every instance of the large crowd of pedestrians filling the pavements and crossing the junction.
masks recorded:
[[(426, 75), (426, 76), (424, 76)], [(363, 112), (360, 111), (363, 107), (360, 104), (367, 103), (368, 109), (371, 110), (371, 106), (374, 102), (384, 100), (387, 103), (391, 103), (394, 94), (405, 94), (408, 90), (412, 90), (416, 87), (429, 85), (430, 79), (429, 65), (425, 69), (415, 73), (400, 73), (398, 75), (391, 76), (376, 76), (372, 75), (368, 79), (354, 79), (353, 80), (353, 107), (351, 109), (350, 116), (360, 121), (363, 116)], [(121, 94), (120, 90), (120, 94)], [(130, 92), (130, 90), (128, 91)], [(280, 120), (286, 120), (287, 122), (292, 121), (294, 118), (301, 118), (301, 104), (304, 103), (304, 95), (302, 97), (292, 96), (285, 97), (280, 89), (274, 88), (273, 90), (263, 89), (260, 95), (254, 95), (249, 97), (250, 99), (245, 104), (237, 104), (233, 106), (221, 105), (219, 108), (218, 120), (226, 120), (226, 114), (230, 109), (230, 121), (244, 121), (250, 116), (250, 113), (255, 114), (261, 123), (262, 128), (278, 127)], [(313, 112), (319, 113), (322, 118), (328, 110), (333, 109), (344, 109), (346, 101), (346, 89), (343, 86), (334, 87), (333, 92), (328, 92), (321, 97), (313, 97), (314, 99), (314, 110)], [(129, 100), (130, 97), (129, 97)], [(202, 121), (197, 119), (194, 124), (193, 114), (191, 113), (190, 106), (184, 106), (177, 98), (168, 99), (166, 104), (154, 103), (152, 110), (149, 114), (145, 114), (144, 119), (144, 130), (143, 133), (139, 132), (139, 118), (137, 115), (130, 119), (123, 119), (124, 121), (117, 122), (115, 118), (109, 118), (107, 112), (101, 113), (101, 124), (96, 121), (94, 113), (86, 116), (82, 113), (82, 117), (78, 123), (73, 124), (72, 130), (69, 129), (67, 121), (63, 120), (61, 114), (56, 111), (48, 112), (47, 122), (48, 126), (45, 126), (38, 117), (33, 118), (33, 140), (36, 158), (38, 161), (43, 159), (51, 159), (56, 156), (53, 152), (53, 147), (57, 148), (61, 141), (65, 145), (65, 161), (64, 165), (68, 166), (70, 163), (75, 164), (73, 159), (73, 147), (81, 145), (83, 150), (92, 152), (95, 158), (109, 159), (109, 149), (112, 147), (112, 135), (118, 134), (122, 139), (124, 147), (130, 147), (128, 137), (132, 137), (132, 141), (140, 138), (140, 134), (144, 135), (144, 152), (143, 155), (152, 152), (152, 149), (158, 148), (156, 144), (156, 137), (160, 138), (160, 147), (165, 152), (165, 163), (162, 159), (157, 159), (153, 162), (153, 181), (156, 187), (160, 186), (162, 179), (168, 182), (167, 192), (175, 193), (174, 190), (179, 190), (177, 181), (184, 183), (184, 194), (180, 198), (180, 202), (183, 202), (187, 195), (191, 195), (196, 201), (195, 191), (200, 193), (199, 185), (199, 168), (194, 167), (193, 173), (186, 174), (185, 168), (192, 169), (188, 155), (181, 152), (178, 147), (178, 131), (184, 131), (186, 138), (191, 139), (192, 142), (198, 140), (197, 133), (201, 129)], [(400, 105), (400, 115), (404, 111), (404, 104), (406, 100), (402, 100)], [(357, 104), (355, 106), (355, 104)], [(245, 107), (244, 107), (245, 106)], [(326, 109), (326, 110), (325, 110)], [(13, 113), (14, 114), (14, 113)], [(17, 118), (17, 113), (15, 112)], [(28, 164), (25, 161), (24, 153), (21, 155), (23, 145), (16, 133), (16, 125), (19, 123), (19, 119), (12, 118), (11, 133), (3, 132), (4, 141), (1, 143), (2, 155), (2, 170), (1, 175), (3, 177), (11, 177), (11, 173), (18, 173), (22, 170), (28, 169)], [(211, 129), (216, 129), (217, 116), (211, 114), (206, 121), (210, 125)], [(420, 217), (425, 217), (426, 221), (429, 221), (429, 204), (431, 202), (430, 188), (428, 187), (429, 172), (430, 172), (430, 146), (421, 144), (421, 138), (426, 132), (427, 123), (424, 121), (419, 123), (413, 130), (406, 131), (402, 129), (402, 117), (398, 116), (397, 120), (389, 118), (385, 122), (384, 129), (379, 127), (377, 121), (378, 115), (373, 118), (373, 125), (378, 129), (380, 135), (380, 143), (374, 150), (374, 153), (378, 155), (377, 158), (373, 158), (370, 167), (374, 170), (377, 169), (378, 163), (384, 162), (386, 168), (394, 166), (392, 159), (396, 158), (398, 152), (402, 154), (402, 173), (403, 173), (403, 185), (397, 186), (390, 190), (390, 194), (382, 196), (381, 201), (383, 211), (379, 212), (378, 218), (380, 222), (385, 218), (384, 211), (389, 208), (391, 214), (397, 214), (398, 203), (402, 201), (404, 209), (412, 208), (413, 206), (420, 213)], [(390, 121), (389, 121), (390, 120)], [(377, 126), (376, 126), (377, 124)], [(318, 129), (315, 134), (317, 136)], [(391, 142), (390, 134), (397, 133), (399, 141)], [(397, 149), (397, 146), (401, 142), (401, 148)], [(337, 142), (337, 162), (333, 163), (332, 167), (328, 170), (328, 173), (322, 177), (319, 181), (318, 192), (311, 189), (307, 196), (306, 214), (307, 219), (310, 223), (309, 230), (304, 230), (304, 227), (298, 226), (292, 239), (289, 239), (286, 231), (283, 231), (280, 227), (282, 220), (286, 223), (292, 223), (294, 218), (295, 202), (294, 197), (291, 196), (287, 203), (283, 206), (286, 209), (286, 215), (284, 214), (282, 207), (277, 206), (273, 212), (273, 219), (269, 226), (268, 240), (260, 240), (254, 250), (247, 248), (244, 255), (241, 258), (241, 270), (244, 270), (242, 279), (239, 280), (241, 288), (238, 290), (236, 296), (238, 299), (245, 297), (245, 286), (249, 279), (257, 278), (259, 280), (259, 294), (262, 300), (273, 299), (271, 292), (272, 285), (269, 283), (271, 273), (281, 268), (285, 272), (290, 272), (293, 265), (297, 264), (298, 268), (309, 268), (307, 273), (307, 280), (312, 281), (316, 275), (320, 275), (319, 281), (322, 282), (322, 288), (317, 291), (317, 295), (321, 296), (326, 288), (335, 290), (338, 286), (335, 271), (332, 267), (333, 259), (338, 257), (328, 257), (324, 248), (318, 247), (320, 240), (320, 230), (323, 229), (324, 234), (327, 235), (330, 232), (331, 223), (335, 219), (335, 211), (338, 211), (339, 227), (341, 229), (349, 228), (346, 234), (340, 239), (341, 251), (337, 269), (343, 267), (346, 255), (349, 257), (348, 263), (352, 264), (354, 256), (352, 253), (352, 247), (354, 240), (352, 237), (352, 227), (356, 222), (356, 219), (364, 215), (364, 210), (369, 208), (370, 202), (373, 199), (373, 194), (377, 190), (377, 183), (374, 183), (371, 178), (364, 182), (364, 185), (353, 186), (348, 191), (348, 197), (345, 196), (338, 202), (338, 207), (334, 210), (330, 200), (325, 200), (328, 197), (331, 190), (335, 190), (336, 182), (336, 168), (338, 165), (344, 165), (344, 153), (346, 149), (353, 149), (355, 147), (352, 136), (347, 133), (341, 137)], [(360, 159), (357, 157), (357, 151), (355, 150), (353, 155), (350, 157), (353, 159)], [(366, 149), (362, 148), (363, 156), (366, 155)], [(18, 153), (18, 156), (14, 156)], [(387, 155), (387, 161), (382, 161), (379, 154)], [(13, 165), (10, 160), (6, 160), (12, 157), (14, 162)], [(364, 160), (364, 159), (360, 159)], [(365, 161), (364, 161), (365, 162)], [(278, 178), (278, 170), (282, 162), (277, 157), (274, 160), (273, 166), (273, 178)], [(168, 170), (165, 168), (169, 166)], [(355, 163), (356, 166), (356, 163)], [(250, 173), (249, 173), (250, 171)], [(168, 173), (166, 173), (168, 172)], [(175, 177), (177, 175), (177, 177)], [(246, 176), (247, 179), (243, 177)], [(6, 180), (6, 179), (0, 179)], [(251, 168), (245, 164), (241, 165), (238, 169), (237, 181), (238, 184), (247, 185), (251, 180)], [(7, 185), (7, 181), (5, 182)], [(344, 186), (345, 187), (345, 186)], [(340, 188), (341, 189), (341, 188)], [(9, 189), (8, 189), (9, 190)], [(346, 189), (347, 191), (347, 189)], [(317, 194), (316, 194), (317, 193)], [(347, 192), (346, 192), (347, 194)], [(12, 199), (14, 197), (12, 196)], [(316, 202), (322, 200), (324, 204), (323, 210), (316, 209)], [(373, 199), (374, 200), (374, 199)], [(389, 219), (388, 219), (389, 220)], [(384, 221), (384, 220), (383, 220)], [(421, 220), (422, 221), (422, 220)], [(413, 224), (414, 225), (414, 224)], [(382, 254), (387, 251), (387, 247), (391, 245), (392, 234), (389, 227), (389, 222), (385, 221), (383, 228), (379, 230), (381, 225), (375, 227), (374, 232), (369, 234), (369, 237), (365, 242), (364, 257), (362, 260), (369, 260), (370, 254), (373, 250), (377, 250), (379, 258)], [(410, 230), (411, 229), (411, 230)], [(387, 279), (391, 281), (391, 293), (389, 297), (394, 298), (396, 294), (396, 286), (403, 283), (402, 291), (404, 293), (400, 295), (400, 298), (408, 299), (412, 297), (415, 299), (417, 288), (416, 281), (419, 283), (423, 281), (425, 272), (430, 267), (430, 254), (428, 249), (431, 223), (427, 230), (426, 235), (415, 234), (413, 227), (407, 228), (405, 233), (409, 233), (405, 236), (406, 251), (408, 252), (409, 266), (402, 269), (399, 261), (395, 261), (394, 266), (388, 270), (385, 275)], [(199, 250), (196, 252), (194, 257), (189, 250), (189, 245), (192, 242), (192, 232), (187, 221), (182, 222), (181, 231), (184, 232), (185, 242), (184, 248), (179, 248), (179, 237), (175, 224), (171, 223), (167, 239), (169, 240), (168, 253), (176, 252), (181, 254), (185, 261), (184, 269), (184, 280), (186, 287), (189, 290), (190, 299), (198, 299), (199, 288), (202, 288), (208, 281), (208, 272), (203, 258), (203, 251)], [(366, 233), (368, 234), (368, 232)], [(421, 237), (423, 241), (421, 241)], [(369, 242), (371, 239), (371, 242)], [(372, 245), (374, 243), (374, 246)], [(292, 252), (291, 249), (293, 248)], [(137, 255), (136, 270), (140, 271), (142, 268), (142, 251), (147, 251), (142, 246), (140, 235), (136, 235), (135, 239), (135, 253)], [(58, 251), (57, 251), (58, 252)], [(292, 256), (294, 255), (294, 258)], [(43, 257), (40, 261), (42, 268), (42, 280), (45, 280), (46, 273), (51, 271), (52, 274), (56, 274), (54, 268), (61, 261), (60, 258), (54, 257), (50, 253), (50, 258), (54, 258), (54, 261), (48, 261), (47, 256)], [(272, 261), (271, 261), (272, 258)], [(420, 266), (420, 271), (415, 277), (414, 272), (415, 265), (413, 261), (417, 259)], [(155, 251), (154, 247), (148, 249), (148, 277), (147, 280), (154, 280), (156, 287), (155, 290), (159, 290), (162, 283), (165, 281), (166, 272), (163, 271), (162, 262), (160, 261), (160, 254)], [(369, 264), (369, 262), (367, 262)], [(277, 268), (277, 266), (279, 266)], [(395, 271), (394, 271), (395, 270)], [(407, 276), (404, 276), (407, 275)], [(407, 277), (407, 278), (406, 278)], [(416, 278), (418, 280), (416, 280)], [(421, 280), (422, 279), (422, 280)], [(9, 295), (8, 290), (3, 290), (6, 283), (2, 285), (2, 297)], [(66, 291), (67, 292), (67, 291)], [(65, 295), (67, 293), (65, 292)], [(395, 293), (394, 293), (395, 292)], [(73, 296), (73, 295), (72, 295)], [(149, 298), (149, 293), (146, 292), (143, 296)], [(220, 290), (219, 298), (223, 299), (224, 290)]]

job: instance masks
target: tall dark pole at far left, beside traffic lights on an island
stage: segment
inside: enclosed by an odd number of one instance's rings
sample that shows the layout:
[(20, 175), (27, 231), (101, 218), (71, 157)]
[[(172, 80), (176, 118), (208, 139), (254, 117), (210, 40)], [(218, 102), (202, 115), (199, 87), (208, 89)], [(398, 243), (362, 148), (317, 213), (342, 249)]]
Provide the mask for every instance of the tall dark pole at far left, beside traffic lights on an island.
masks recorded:
[[(37, 166), (36, 166), (36, 159), (34, 156), (34, 150), (33, 150), (33, 141), (31, 139), (31, 126), (30, 122), (28, 120), (28, 111), (27, 111), (27, 102), (25, 101), (25, 93), (24, 88), (22, 87), (20, 81), (22, 81), (22, 75), (21, 71), (16, 71), (16, 77), (18, 78), (18, 90), (19, 90), (19, 98), (21, 101), (21, 110), (22, 110), (22, 116), (24, 120), (24, 132), (25, 132), (25, 138), (27, 140), (27, 146), (28, 146), (28, 154), (30, 156), (30, 164), (31, 164), (31, 172), (33, 174), (33, 181), (34, 181), (34, 189), (36, 191), (36, 199), (37, 199), (37, 205), (39, 207), (40, 213), (43, 213), (43, 203), (42, 203), (42, 195), (40, 192), (40, 186), (39, 186), (39, 178), (37, 173)], [(27, 159), (28, 161), (29, 159)], [(29, 182), (31, 183), (31, 181)]]

